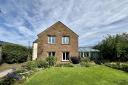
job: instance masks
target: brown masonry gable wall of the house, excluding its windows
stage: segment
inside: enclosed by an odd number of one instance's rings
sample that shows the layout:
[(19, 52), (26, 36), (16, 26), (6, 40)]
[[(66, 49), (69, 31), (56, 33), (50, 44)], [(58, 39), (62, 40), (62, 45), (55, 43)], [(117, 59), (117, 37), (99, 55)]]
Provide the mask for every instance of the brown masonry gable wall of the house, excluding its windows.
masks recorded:
[[(48, 44), (48, 36), (56, 36), (55, 44)], [(62, 37), (69, 36), (70, 43), (62, 44)], [(44, 32), (38, 35), (38, 58), (45, 59), (48, 56), (48, 52), (54, 51), (57, 57), (57, 63), (62, 61), (62, 53), (69, 52), (70, 56), (78, 57), (78, 35), (70, 30), (67, 26), (61, 22), (57, 22)]]

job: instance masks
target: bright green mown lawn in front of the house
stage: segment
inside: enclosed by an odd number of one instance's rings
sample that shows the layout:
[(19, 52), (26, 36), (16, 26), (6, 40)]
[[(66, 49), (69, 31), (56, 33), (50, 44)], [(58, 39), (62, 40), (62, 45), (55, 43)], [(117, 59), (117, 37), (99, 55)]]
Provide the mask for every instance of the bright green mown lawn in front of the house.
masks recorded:
[(23, 85), (128, 85), (128, 73), (105, 66), (49, 68)]

